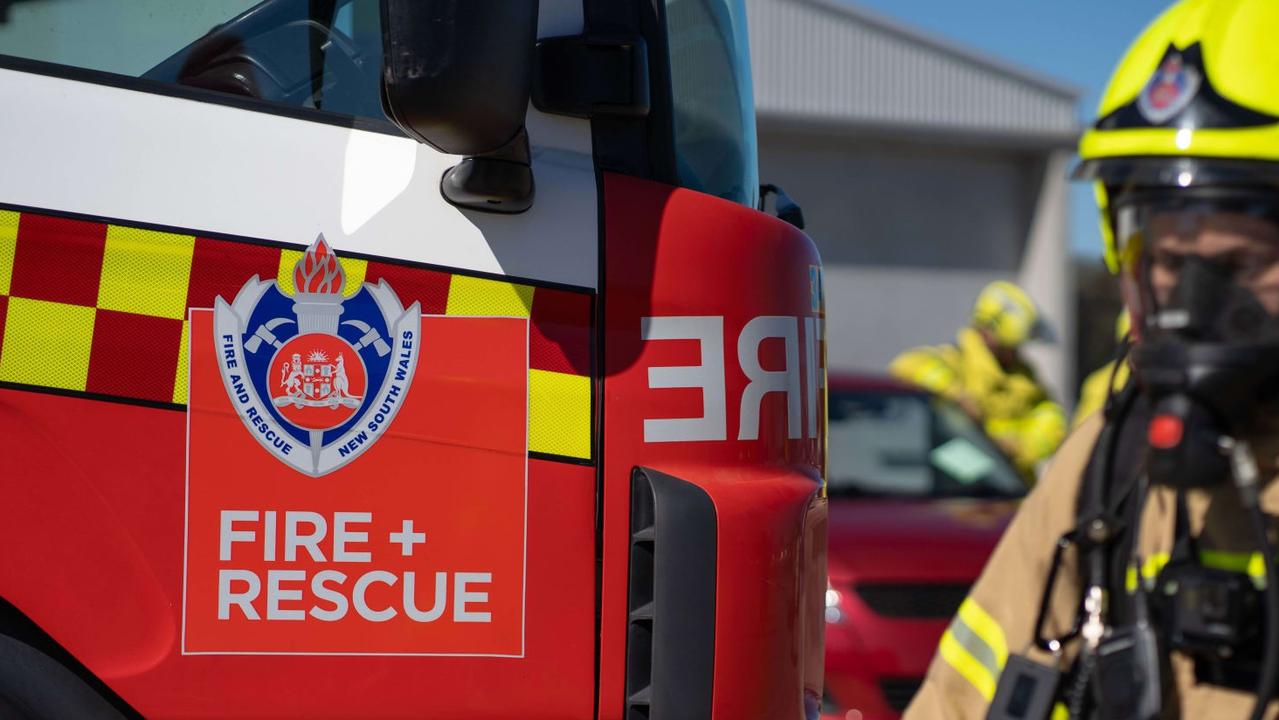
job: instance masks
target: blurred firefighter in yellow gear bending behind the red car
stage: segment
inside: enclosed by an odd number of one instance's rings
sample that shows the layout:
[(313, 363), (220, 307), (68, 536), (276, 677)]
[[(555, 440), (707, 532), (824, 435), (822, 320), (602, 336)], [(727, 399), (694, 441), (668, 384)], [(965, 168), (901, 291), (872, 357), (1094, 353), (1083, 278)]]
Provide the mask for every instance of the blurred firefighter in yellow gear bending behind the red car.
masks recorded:
[(1032, 481), (1065, 435), (1065, 413), (1021, 356), (1022, 344), (1046, 338), (1031, 298), (1000, 280), (978, 293), (954, 345), (907, 350), (889, 372), (958, 403)]

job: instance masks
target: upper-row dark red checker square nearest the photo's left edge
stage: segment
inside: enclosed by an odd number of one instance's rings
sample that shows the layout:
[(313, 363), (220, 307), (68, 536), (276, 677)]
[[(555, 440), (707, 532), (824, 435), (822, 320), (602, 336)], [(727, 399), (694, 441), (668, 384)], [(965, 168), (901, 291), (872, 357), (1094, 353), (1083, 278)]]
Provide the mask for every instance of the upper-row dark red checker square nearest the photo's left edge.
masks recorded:
[(9, 294), (78, 306), (97, 304), (106, 225), (23, 212)]

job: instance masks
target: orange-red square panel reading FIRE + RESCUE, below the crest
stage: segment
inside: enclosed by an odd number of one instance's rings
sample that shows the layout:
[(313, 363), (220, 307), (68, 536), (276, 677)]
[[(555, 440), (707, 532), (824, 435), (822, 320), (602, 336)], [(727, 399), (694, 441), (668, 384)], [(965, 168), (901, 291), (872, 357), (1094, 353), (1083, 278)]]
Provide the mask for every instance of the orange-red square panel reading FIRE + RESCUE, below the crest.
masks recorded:
[[(226, 393), (223, 382), (223, 371), (228, 370), (225, 356), (211, 341), (214, 322), (212, 312), (191, 313), (192, 338), (205, 340), (191, 347), (182, 653), (522, 657), (526, 606), (530, 611), (535, 607), (531, 601), (526, 605), (524, 582), (528, 364), (523, 348), (528, 338), (527, 321), (422, 318), (421, 334), (409, 335), (428, 339), (425, 345), (428, 352), (421, 353), (412, 379), (405, 379), (405, 389), (394, 394), (399, 398), (396, 402), (403, 403), (399, 413), (394, 419), (375, 421), (376, 430), (362, 423), (359, 442), (368, 451), (316, 476), (302, 471), (312, 462), (304, 445), (297, 448), (301, 453), (292, 455), (303, 463), (298, 466), (290, 462), (288, 453), (267, 450), (260, 442), (257, 437), (265, 431), (276, 432), (275, 421), (262, 419), (266, 413), (258, 411), (261, 399), (249, 398), (243, 403), (239, 395), (233, 399)], [(400, 349), (403, 345), (396, 343), (396, 350)], [(274, 380), (274, 372), (269, 377)], [(258, 418), (260, 423), (252, 423), (249, 417)], [(482, 477), (483, 491), (477, 492), (472, 483), (453, 480), (459, 477)], [(224, 524), (223, 518), (228, 518), (226, 523), (247, 527), (242, 520), (231, 520), (228, 512), (256, 512), (255, 517), (263, 522), (266, 513), (271, 513), (283, 526), (289, 510), (301, 508), (333, 518), (327, 527), (334, 528), (338, 513), (367, 513), (367, 523), (349, 520), (365, 528), (367, 541), (353, 541), (350, 550), (367, 552), (367, 560), (359, 561), (357, 569), (327, 549), (320, 555), (290, 556), (286, 551), (267, 555), (263, 549), (274, 538), (266, 540), (261, 527), (256, 537), (262, 538), (262, 545), (257, 547), (231, 541), (225, 535), (230, 526)], [(405, 546), (388, 541), (408, 527), (418, 528), (413, 532), (428, 540), (417, 542), (428, 545), (416, 551), (409, 545), (405, 551)], [(229, 550), (224, 552), (224, 542), (234, 542), (234, 546), (226, 545)], [(258, 586), (267, 590), (265, 578), (278, 570), (301, 570), (308, 578), (333, 570), (348, 578), (341, 581), (344, 590), (340, 592), (358, 592), (354, 599), (367, 590), (368, 607), (394, 604), (399, 610), (379, 619), (367, 609), (359, 610), (356, 600), (347, 610), (316, 622), (320, 615), (306, 609), (317, 610), (324, 600), (307, 591), (283, 606), (269, 606), (267, 591), (248, 600), (247, 605), (228, 613), (220, 610), (229, 590), (221, 582), (224, 573), (240, 578), (252, 573), (263, 578)], [(386, 582), (367, 584), (357, 579), (373, 578), (367, 574), (370, 572), (391, 573), (394, 587)], [(416, 590), (408, 584), (412, 582), (409, 573), (418, 578)], [(463, 575), (473, 577), (464, 581)], [(446, 587), (437, 584), (441, 579)], [(464, 600), (458, 595), (463, 591), (457, 590), (460, 582), (477, 583), (473, 587), (482, 597)], [(440, 615), (435, 619), (409, 615), (411, 602), (426, 610), (431, 607), (431, 597), (440, 601)], [(448, 599), (446, 606), (444, 599)], [(458, 610), (467, 604), (468, 611), (483, 616), (459, 616)], [(285, 619), (279, 615), (280, 610), (297, 610), (303, 615)]]

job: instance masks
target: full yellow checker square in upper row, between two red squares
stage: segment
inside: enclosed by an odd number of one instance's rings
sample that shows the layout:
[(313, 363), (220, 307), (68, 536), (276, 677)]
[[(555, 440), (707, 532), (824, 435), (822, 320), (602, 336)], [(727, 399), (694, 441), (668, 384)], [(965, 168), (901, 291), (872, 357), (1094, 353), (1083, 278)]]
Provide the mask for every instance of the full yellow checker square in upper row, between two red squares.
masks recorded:
[(175, 320), (185, 317), (194, 249), (192, 235), (110, 225), (97, 307)]

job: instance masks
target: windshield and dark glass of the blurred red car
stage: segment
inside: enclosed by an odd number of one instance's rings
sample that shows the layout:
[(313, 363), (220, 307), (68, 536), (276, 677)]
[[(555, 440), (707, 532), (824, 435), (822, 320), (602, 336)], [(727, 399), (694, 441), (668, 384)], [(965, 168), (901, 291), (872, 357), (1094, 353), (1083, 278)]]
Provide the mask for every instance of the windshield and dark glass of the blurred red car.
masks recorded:
[(908, 390), (830, 393), (831, 496), (1018, 497), (1012, 463), (954, 403)]

